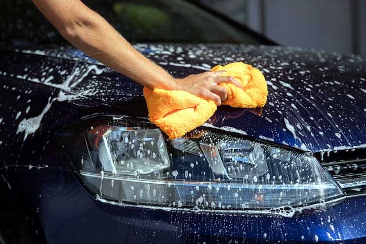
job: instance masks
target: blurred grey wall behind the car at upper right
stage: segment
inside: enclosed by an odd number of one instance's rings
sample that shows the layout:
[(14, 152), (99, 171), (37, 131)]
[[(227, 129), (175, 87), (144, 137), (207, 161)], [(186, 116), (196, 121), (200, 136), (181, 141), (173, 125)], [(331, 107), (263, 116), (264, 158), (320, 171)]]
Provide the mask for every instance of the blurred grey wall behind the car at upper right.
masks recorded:
[(200, 0), (279, 44), (366, 57), (366, 0)]

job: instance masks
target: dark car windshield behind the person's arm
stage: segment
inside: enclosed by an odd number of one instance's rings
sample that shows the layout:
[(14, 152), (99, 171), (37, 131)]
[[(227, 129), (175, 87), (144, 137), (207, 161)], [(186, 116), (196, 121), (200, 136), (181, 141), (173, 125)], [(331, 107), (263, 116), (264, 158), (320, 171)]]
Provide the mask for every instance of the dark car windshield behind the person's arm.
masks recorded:
[[(258, 39), (184, 0), (83, 0), (131, 42), (258, 44)], [(2, 0), (0, 42), (61, 44), (66, 41), (31, 0)]]

